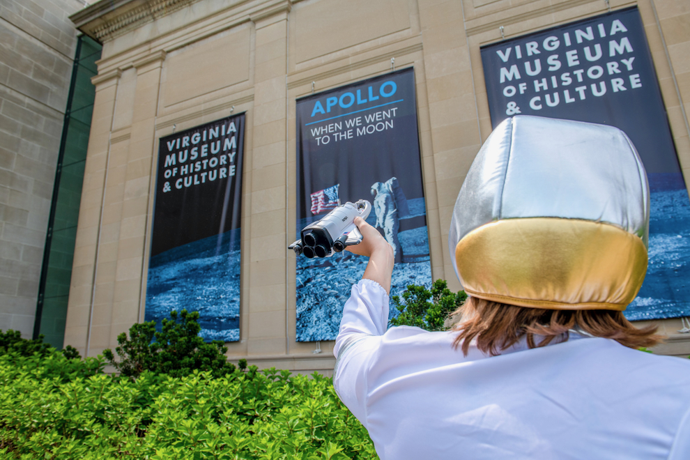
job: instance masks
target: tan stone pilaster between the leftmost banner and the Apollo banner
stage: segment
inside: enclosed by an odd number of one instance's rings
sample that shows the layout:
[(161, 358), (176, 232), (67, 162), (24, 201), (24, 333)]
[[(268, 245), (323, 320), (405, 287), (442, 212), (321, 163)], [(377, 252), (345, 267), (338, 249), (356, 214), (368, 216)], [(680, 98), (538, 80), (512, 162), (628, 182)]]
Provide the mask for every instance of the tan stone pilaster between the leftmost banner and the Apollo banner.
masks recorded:
[[(249, 295), (243, 335), (249, 355), (286, 353), (286, 64), (290, 2), (252, 16), (254, 51), (254, 135), (247, 167), (251, 179)], [(246, 229), (246, 231), (245, 231)], [(251, 300), (250, 300), (251, 299)], [(292, 338), (294, 340), (294, 338)]]

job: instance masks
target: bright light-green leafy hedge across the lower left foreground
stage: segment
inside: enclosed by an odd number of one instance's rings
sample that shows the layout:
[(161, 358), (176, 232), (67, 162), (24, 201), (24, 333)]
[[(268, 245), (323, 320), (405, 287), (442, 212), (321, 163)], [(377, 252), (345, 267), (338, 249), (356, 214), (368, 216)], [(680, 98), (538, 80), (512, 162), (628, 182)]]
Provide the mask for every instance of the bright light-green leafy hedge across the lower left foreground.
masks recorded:
[[(54, 359), (66, 360), (53, 355)], [(268, 369), (214, 378), (144, 371), (61, 381), (34, 355), (0, 356), (0, 457), (376, 459), (332, 380)]]

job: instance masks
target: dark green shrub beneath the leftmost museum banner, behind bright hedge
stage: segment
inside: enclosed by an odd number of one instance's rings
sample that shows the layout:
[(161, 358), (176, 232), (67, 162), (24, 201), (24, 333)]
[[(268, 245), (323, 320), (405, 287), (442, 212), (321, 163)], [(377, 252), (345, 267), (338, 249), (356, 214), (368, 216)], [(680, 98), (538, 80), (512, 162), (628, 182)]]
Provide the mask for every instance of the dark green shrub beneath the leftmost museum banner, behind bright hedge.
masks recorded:
[(205, 343), (199, 337), (199, 312), (183, 309), (170, 312), (171, 319), (163, 319), (162, 331), (155, 331), (155, 322), (137, 323), (130, 328), (130, 338), (125, 332), (117, 337), (115, 348), (120, 361), (115, 360), (109, 348), (103, 351), (105, 358), (123, 376), (136, 379), (144, 371), (168, 374), (173, 377), (190, 375), (194, 370), (210, 371), (216, 377), (233, 374), (235, 365), (227, 361), (227, 346), (220, 340)]

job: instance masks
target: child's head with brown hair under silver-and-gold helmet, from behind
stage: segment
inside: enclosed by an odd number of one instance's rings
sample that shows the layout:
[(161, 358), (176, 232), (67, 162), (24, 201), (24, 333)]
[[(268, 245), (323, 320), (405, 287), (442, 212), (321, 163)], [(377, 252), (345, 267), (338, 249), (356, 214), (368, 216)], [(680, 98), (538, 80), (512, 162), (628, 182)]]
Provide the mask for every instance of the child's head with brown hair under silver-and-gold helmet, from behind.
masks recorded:
[[(620, 312), (645, 278), (648, 233), (647, 177), (624, 132), (516, 116), (498, 125), (470, 167), (449, 245), (473, 298), (466, 314), (482, 316), (473, 324), (486, 328), (489, 316), (498, 321), (491, 330), (506, 323), (503, 316), (519, 322), (489, 340), (495, 352), (515, 334), (528, 334), (534, 345), (530, 334), (549, 342), (574, 324), (599, 337), (634, 330)], [(473, 337), (480, 333), (473, 330)], [(619, 342), (641, 346), (652, 334)]]

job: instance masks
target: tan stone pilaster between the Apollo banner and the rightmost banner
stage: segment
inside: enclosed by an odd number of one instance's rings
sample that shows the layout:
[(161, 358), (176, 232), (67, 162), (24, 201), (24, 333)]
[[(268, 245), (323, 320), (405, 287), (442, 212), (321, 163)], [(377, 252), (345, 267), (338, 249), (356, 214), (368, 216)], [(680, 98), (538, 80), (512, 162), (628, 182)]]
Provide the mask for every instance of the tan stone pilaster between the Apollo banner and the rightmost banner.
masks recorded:
[[(462, 8), (452, 0), (420, 0), (424, 37), (424, 72), (427, 76), (433, 171), (438, 193), (440, 235), (430, 228), (431, 240), (442, 247), (434, 254), (434, 276), (447, 279), (450, 289), (460, 288), (447, 251), (450, 216), (470, 164), (482, 144), (477, 123), (470, 50), (465, 36)], [(481, 66), (481, 63), (479, 63)], [(486, 133), (488, 135), (488, 133)], [(425, 158), (424, 169), (431, 166)], [(428, 175), (427, 175), (428, 176)], [(427, 190), (429, 190), (427, 183)], [(429, 213), (429, 218), (434, 215)], [(443, 261), (443, 274), (438, 264)]]

